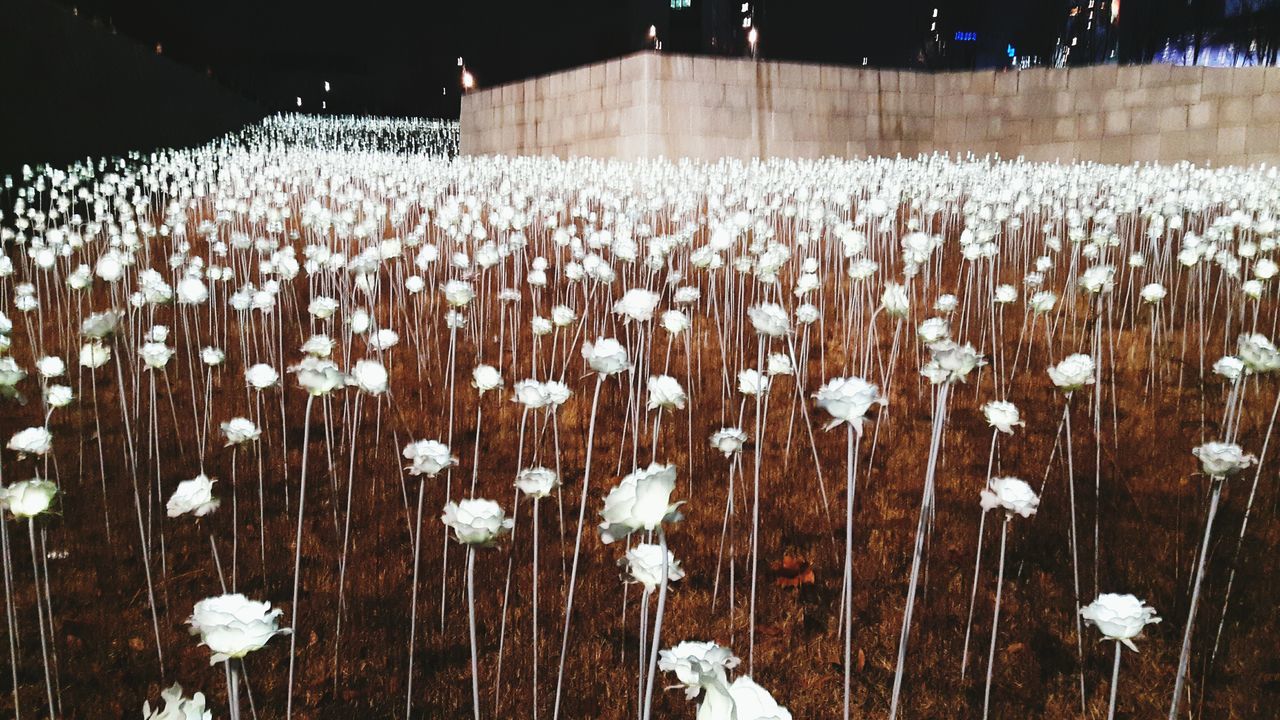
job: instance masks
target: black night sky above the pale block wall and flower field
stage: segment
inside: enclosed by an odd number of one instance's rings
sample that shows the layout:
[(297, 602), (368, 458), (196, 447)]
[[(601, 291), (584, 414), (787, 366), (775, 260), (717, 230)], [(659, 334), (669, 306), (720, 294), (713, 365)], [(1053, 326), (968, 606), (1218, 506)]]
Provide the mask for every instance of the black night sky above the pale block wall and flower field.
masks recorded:
[[(646, 26), (631, 26), (644, 4), (667, 0), (59, 1), (163, 44), (169, 58), (270, 109), (292, 109), (301, 95), (303, 109), (319, 110), (328, 79), (330, 111), (456, 117), (458, 55), (481, 85), (622, 55), (643, 44)], [(694, 4), (701, 1), (716, 0)], [(900, 65), (914, 53), (925, 4), (762, 0), (762, 54)]]

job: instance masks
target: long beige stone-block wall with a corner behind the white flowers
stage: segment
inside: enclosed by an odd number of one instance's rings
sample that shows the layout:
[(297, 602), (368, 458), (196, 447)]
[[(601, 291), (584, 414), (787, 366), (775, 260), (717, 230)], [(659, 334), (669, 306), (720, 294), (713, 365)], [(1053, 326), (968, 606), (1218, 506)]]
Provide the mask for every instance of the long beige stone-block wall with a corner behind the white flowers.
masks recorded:
[(1280, 163), (1280, 68), (927, 74), (643, 53), (463, 99), (463, 154)]

